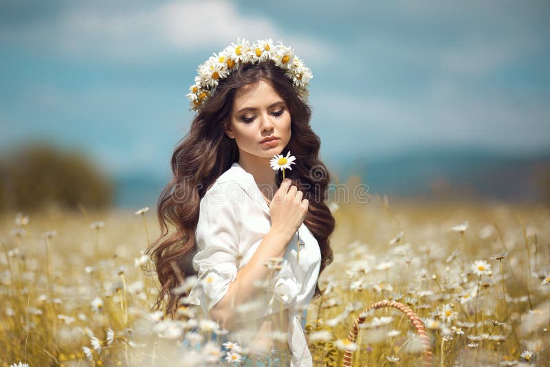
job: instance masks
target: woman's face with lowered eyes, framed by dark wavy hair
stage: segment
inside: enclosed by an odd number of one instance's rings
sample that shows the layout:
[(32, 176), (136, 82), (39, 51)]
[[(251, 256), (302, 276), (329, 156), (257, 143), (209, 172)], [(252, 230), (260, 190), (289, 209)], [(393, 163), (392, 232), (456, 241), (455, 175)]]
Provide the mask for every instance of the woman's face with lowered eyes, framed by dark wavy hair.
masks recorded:
[[(272, 86), (260, 80), (255, 86), (235, 92), (230, 126), (225, 131), (239, 146), (239, 155), (271, 159), (281, 154), (290, 140), (290, 113)], [(266, 137), (277, 137), (272, 144), (261, 144)]]

